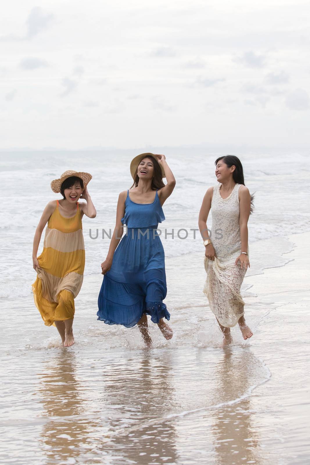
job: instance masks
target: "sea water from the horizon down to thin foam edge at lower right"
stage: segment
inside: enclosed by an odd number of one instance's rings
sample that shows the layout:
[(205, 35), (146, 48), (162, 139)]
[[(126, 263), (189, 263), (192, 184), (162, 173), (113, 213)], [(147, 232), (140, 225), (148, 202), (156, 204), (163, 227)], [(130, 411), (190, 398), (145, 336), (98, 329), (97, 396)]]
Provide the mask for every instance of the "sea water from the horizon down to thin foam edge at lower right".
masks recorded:
[[(221, 334), (202, 293), (204, 247), (193, 230), (206, 189), (217, 183), (219, 153), (164, 152), (177, 179), (163, 206), (166, 221), (159, 224), (173, 338), (166, 341), (152, 325), (153, 348), (146, 350), (137, 327), (107, 326), (96, 319), (100, 264), (109, 247), (102, 230), (113, 231), (118, 194), (132, 185), (129, 165), (137, 153), (1, 153), (6, 399), (1, 463), (224, 465), (222, 444), (231, 444), (230, 459), (234, 451), (243, 454), (242, 462), (231, 463), (270, 463), (248, 416), (252, 393), (270, 379), (269, 367), (237, 329), (230, 350), (220, 349)], [(288, 234), (310, 230), (309, 169), (303, 154), (244, 153), (240, 158), (245, 184), (255, 193), (249, 220), (251, 276), (284, 266), (293, 247)], [(303, 169), (295, 169), (296, 160)], [(92, 173), (88, 190), (97, 209), (95, 219), (83, 218), (85, 278), (75, 300), (76, 344), (70, 349), (59, 346), (55, 328), (44, 326), (31, 291), (35, 228), (47, 202), (61, 198), (51, 191), (51, 180), (67, 169)], [(242, 292), (245, 300), (252, 296), (247, 278)], [(245, 309), (252, 329), (262, 325), (270, 308)]]

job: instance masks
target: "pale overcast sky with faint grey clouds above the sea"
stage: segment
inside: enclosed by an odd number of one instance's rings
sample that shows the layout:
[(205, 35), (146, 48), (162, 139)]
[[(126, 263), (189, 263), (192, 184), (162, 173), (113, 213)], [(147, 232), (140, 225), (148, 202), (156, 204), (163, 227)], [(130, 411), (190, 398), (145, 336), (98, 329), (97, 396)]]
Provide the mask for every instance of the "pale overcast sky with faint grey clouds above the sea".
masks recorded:
[(308, 147), (310, 3), (11, 0), (0, 149)]

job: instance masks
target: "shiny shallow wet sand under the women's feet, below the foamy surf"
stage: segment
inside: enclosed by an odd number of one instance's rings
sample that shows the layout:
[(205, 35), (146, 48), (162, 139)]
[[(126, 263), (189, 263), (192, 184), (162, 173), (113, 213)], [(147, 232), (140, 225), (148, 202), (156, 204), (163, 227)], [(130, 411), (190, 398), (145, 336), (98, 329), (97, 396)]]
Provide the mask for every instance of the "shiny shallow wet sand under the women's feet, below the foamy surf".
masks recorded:
[(96, 320), (101, 275), (76, 299), (71, 348), (32, 295), (1, 299), (0, 463), (308, 464), (310, 233), (290, 240), (289, 263), (246, 277), (254, 336), (234, 328), (225, 350), (197, 253), (167, 259), (175, 334), (152, 326), (150, 350), (136, 327)]

